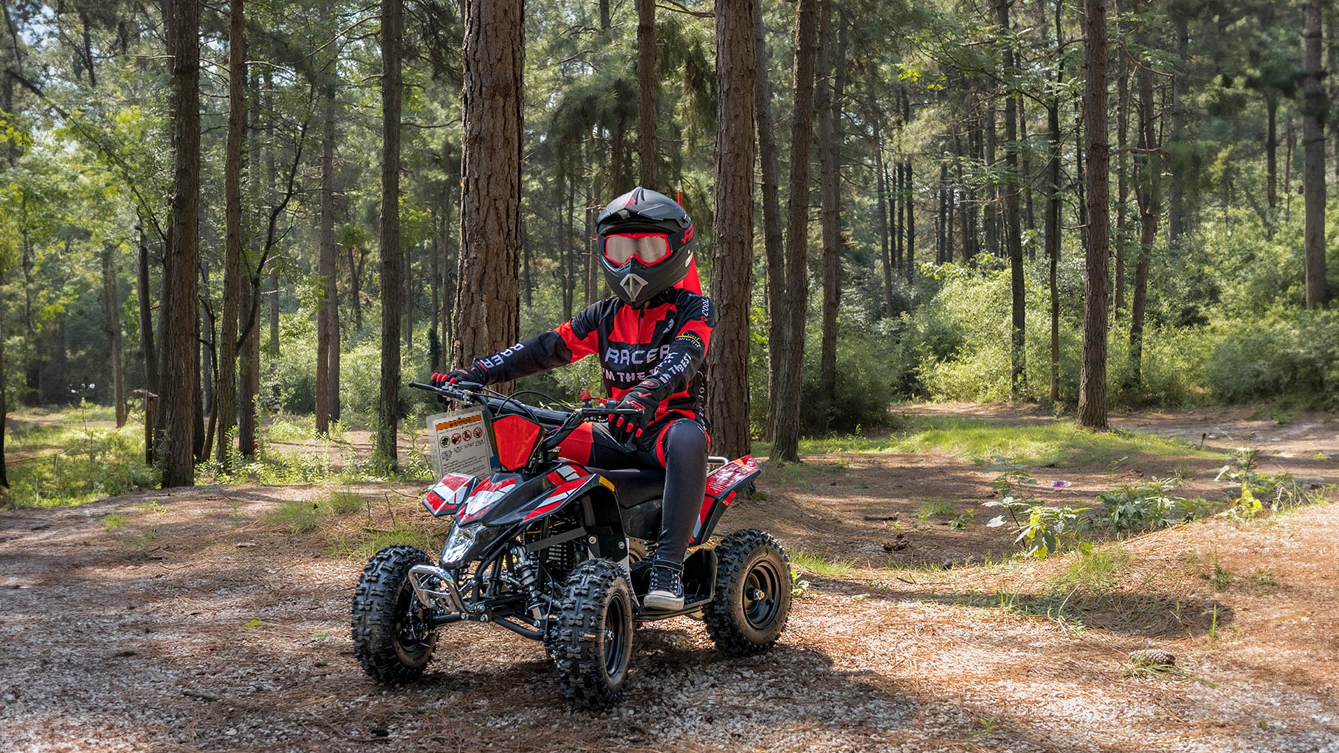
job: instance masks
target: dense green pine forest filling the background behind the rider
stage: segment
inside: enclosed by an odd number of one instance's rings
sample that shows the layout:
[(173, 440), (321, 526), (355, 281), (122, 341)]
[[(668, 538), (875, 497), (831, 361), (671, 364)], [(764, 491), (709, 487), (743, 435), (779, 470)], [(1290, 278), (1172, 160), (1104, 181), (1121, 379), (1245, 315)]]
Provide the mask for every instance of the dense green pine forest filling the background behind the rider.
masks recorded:
[(276, 426), (424, 470), (407, 382), (604, 296), (633, 185), (698, 226), (726, 453), (897, 401), (1339, 407), (1332, 3), (3, 8), (0, 418), (123, 427), (17, 504), (292, 465)]

